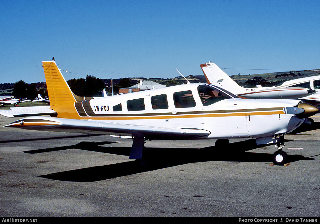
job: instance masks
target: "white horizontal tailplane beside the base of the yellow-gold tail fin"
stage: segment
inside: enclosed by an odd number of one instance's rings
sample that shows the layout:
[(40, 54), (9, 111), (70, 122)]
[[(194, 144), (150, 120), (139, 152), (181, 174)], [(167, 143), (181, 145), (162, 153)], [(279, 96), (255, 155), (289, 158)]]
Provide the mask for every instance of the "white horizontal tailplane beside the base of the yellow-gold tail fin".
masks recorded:
[(0, 110), (0, 114), (6, 117), (22, 117), (37, 115), (55, 115), (57, 112), (50, 109), (50, 106), (36, 107), (12, 107), (10, 110)]

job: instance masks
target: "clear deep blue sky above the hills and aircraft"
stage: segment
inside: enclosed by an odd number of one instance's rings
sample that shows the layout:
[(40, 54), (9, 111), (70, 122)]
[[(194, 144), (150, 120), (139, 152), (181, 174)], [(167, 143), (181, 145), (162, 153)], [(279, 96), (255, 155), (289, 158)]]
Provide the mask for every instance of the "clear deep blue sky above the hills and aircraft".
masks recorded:
[[(202, 75), (220, 68), (320, 69), (320, 1), (0, 2), (0, 83)], [(269, 70), (224, 69), (228, 75)]]

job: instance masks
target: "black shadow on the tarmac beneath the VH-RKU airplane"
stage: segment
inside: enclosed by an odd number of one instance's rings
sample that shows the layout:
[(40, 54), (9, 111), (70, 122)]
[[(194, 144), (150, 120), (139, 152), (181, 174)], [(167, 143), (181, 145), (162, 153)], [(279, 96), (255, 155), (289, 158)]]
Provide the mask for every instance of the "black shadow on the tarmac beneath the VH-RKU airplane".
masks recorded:
[[(290, 140), (289, 140), (290, 141)], [(115, 155), (130, 155), (130, 147), (105, 147), (104, 144), (115, 142), (80, 142), (76, 145), (38, 149), (26, 151), (25, 153), (41, 153), (64, 149), (82, 149), (109, 153)], [(83, 169), (76, 169), (53, 174), (41, 175), (39, 177), (76, 182), (93, 182), (107, 180), (116, 177), (137, 174), (152, 170), (163, 169), (188, 163), (199, 163), (207, 161), (226, 161), (226, 162), (265, 162), (272, 163), (273, 154), (247, 152), (254, 148), (260, 148), (264, 145), (257, 146), (255, 140), (245, 140), (230, 143), (223, 148), (206, 147), (206, 148), (146, 148), (142, 160), (132, 160), (124, 163), (109, 164), (103, 166), (94, 166)], [(309, 160), (304, 156), (288, 155), (288, 163), (299, 160)]]

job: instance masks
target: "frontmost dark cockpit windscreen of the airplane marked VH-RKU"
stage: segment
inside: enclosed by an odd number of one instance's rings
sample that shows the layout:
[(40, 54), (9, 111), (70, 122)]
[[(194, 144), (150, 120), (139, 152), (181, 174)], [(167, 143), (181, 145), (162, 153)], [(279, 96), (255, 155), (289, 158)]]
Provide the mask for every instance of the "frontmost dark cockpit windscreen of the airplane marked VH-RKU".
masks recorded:
[(198, 93), (200, 96), (200, 100), (204, 106), (211, 105), (220, 100), (230, 99), (226, 93), (220, 91), (219, 89), (214, 88), (210, 85), (199, 85)]

